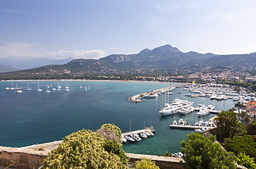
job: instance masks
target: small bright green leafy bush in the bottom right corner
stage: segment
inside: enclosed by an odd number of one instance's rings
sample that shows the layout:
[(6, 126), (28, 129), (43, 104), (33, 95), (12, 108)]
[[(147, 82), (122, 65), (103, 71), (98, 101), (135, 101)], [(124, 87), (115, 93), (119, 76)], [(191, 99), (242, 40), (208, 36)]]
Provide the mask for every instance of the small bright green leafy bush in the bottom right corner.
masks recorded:
[(246, 155), (244, 152), (240, 152), (237, 155), (236, 161), (239, 165), (244, 166), (249, 169), (255, 169), (256, 168), (256, 163), (254, 163), (254, 157), (250, 158), (249, 155)]

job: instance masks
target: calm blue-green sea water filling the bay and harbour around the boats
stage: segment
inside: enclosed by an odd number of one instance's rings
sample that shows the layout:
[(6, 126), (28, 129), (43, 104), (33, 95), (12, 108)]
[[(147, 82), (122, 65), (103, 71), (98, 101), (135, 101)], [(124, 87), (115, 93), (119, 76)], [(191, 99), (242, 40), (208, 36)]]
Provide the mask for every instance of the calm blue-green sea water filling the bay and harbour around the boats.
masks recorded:
[[(37, 92), (39, 82), (42, 92)], [(33, 90), (26, 91), (27, 83)], [(62, 90), (51, 90), (60, 83)], [(68, 85), (70, 91), (64, 91)], [(5, 90), (6, 87), (21, 86), (23, 93)], [(80, 88), (80, 85), (82, 88)], [(175, 85), (175, 83), (172, 83)], [(179, 85), (179, 84), (177, 84)], [(46, 93), (46, 86), (51, 92)], [(168, 83), (122, 82), (122, 81), (1, 81), (0, 82), (0, 146), (22, 147), (36, 143), (61, 140), (77, 130), (97, 130), (104, 123), (115, 123), (122, 132), (140, 130), (145, 126), (154, 126), (154, 137), (136, 143), (124, 143), (125, 152), (163, 155), (164, 152), (179, 152), (180, 142), (193, 130), (170, 129), (174, 115), (161, 117), (163, 95), (156, 99), (143, 99), (132, 103), (129, 97), (142, 92), (169, 86)], [(84, 90), (89, 87), (89, 90)], [(207, 97), (186, 97), (187, 90), (176, 88), (170, 100), (179, 98), (194, 102), (212, 104), (215, 110), (228, 110), (234, 107), (232, 100), (216, 101)], [(179, 94), (181, 92), (181, 94)], [(204, 116), (203, 120), (214, 117)], [(184, 115), (178, 118), (185, 119)], [(186, 117), (192, 125), (196, 121), (196, 112)]]

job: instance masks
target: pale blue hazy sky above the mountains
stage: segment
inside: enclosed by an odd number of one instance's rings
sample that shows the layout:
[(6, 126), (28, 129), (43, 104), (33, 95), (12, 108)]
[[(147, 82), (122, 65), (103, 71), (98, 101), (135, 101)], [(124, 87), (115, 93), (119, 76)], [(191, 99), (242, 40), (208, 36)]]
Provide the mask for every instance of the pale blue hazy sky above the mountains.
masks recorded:
[(255, 0), (0, 0), (0, 57), (256, 52)]

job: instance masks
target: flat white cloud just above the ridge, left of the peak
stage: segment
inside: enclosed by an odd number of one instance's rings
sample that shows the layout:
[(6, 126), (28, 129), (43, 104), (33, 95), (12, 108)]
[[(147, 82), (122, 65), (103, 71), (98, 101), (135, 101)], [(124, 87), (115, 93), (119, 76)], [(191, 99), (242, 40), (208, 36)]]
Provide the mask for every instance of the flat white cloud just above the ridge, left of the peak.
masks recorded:
[(105, 52), (103, 50), (60, 50), (59, 52), (53, 52), (53, 57), (67, 58), (74, 57), (76, 59), (99, 59), (104, 57)]

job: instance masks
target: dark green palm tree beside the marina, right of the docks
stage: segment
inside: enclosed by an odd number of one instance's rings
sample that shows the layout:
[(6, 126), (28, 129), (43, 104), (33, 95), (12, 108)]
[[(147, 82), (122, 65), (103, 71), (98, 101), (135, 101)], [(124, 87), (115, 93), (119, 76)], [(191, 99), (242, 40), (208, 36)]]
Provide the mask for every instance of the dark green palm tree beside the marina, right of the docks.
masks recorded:
[(237, 121), (235, 112), (221, 111), (215, 118), (217, 121), (217, 138), (235, 137), (235, 135), (245, 135), (246, 126)]

